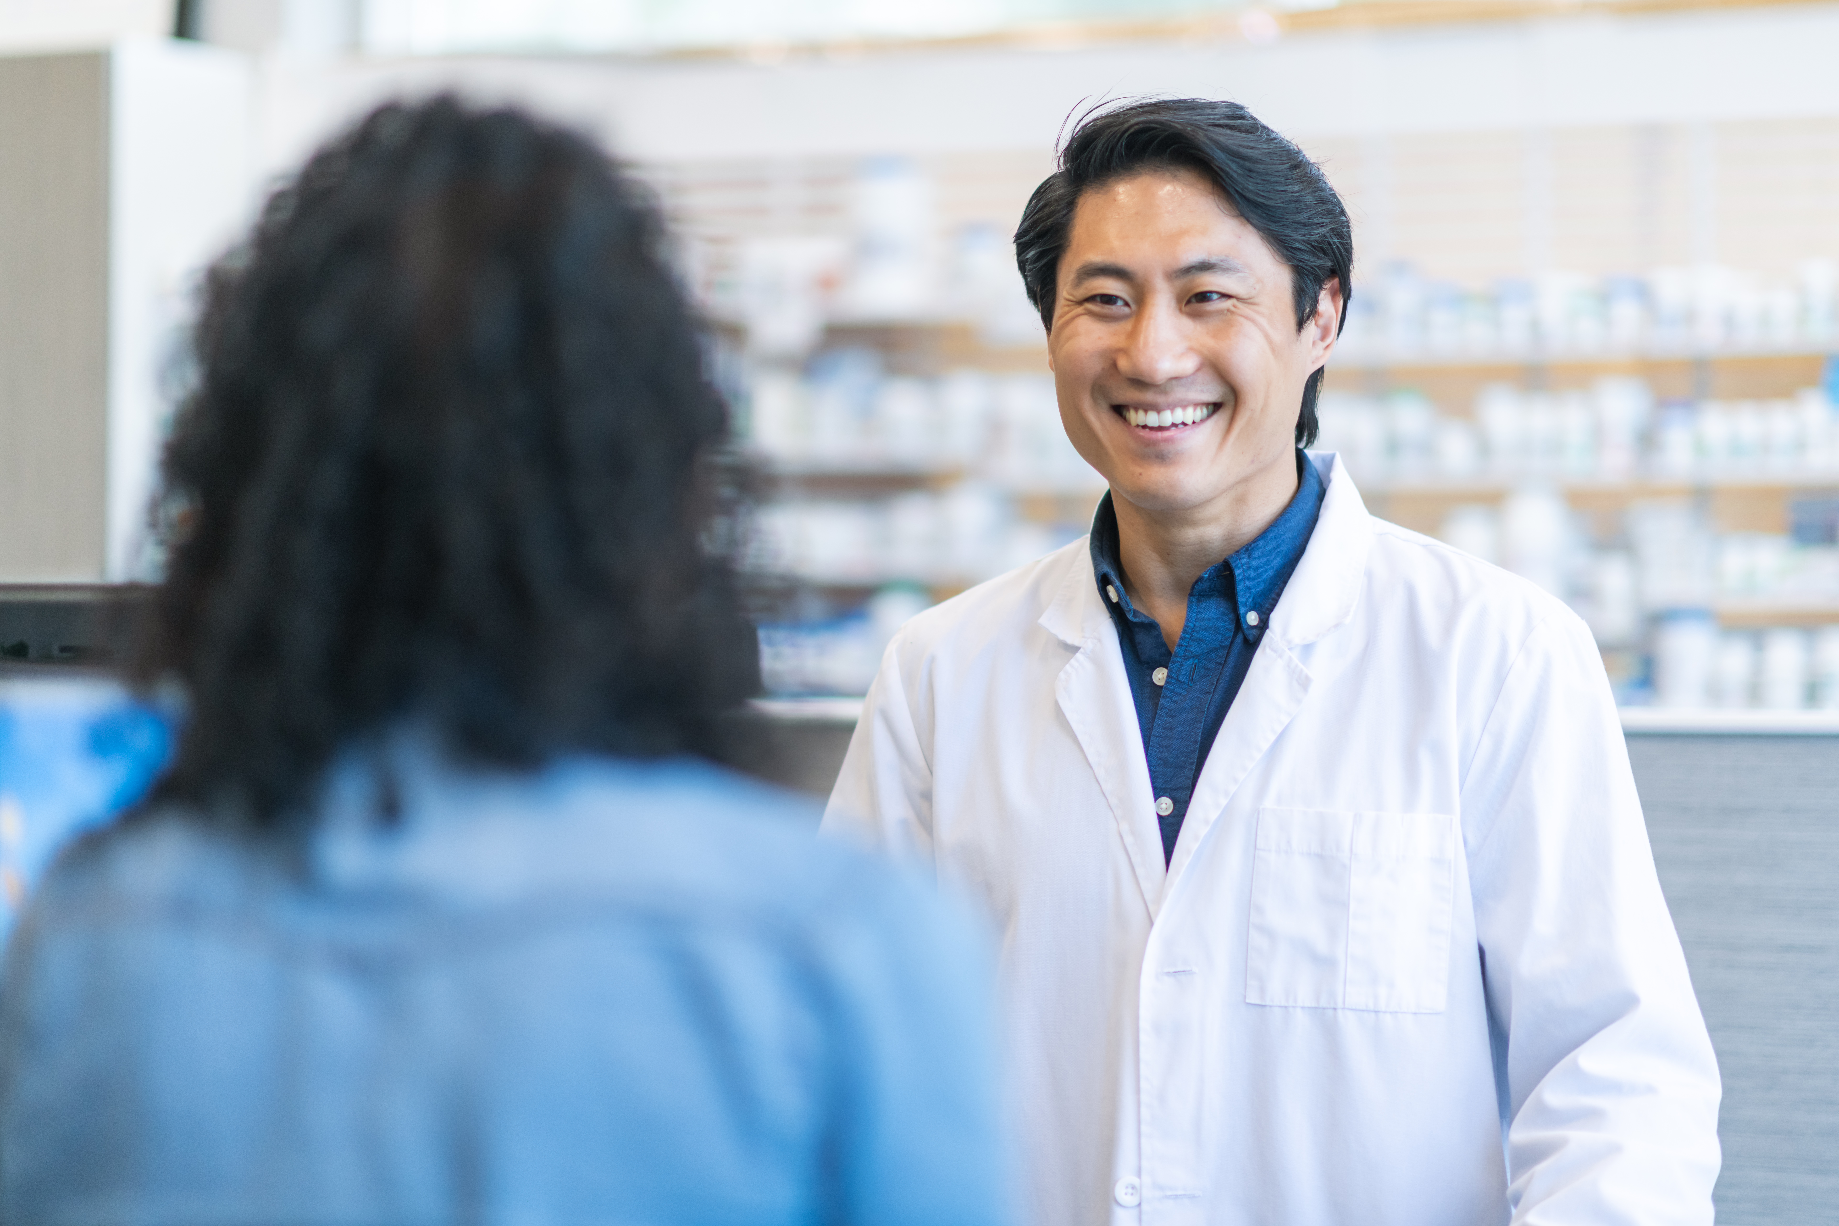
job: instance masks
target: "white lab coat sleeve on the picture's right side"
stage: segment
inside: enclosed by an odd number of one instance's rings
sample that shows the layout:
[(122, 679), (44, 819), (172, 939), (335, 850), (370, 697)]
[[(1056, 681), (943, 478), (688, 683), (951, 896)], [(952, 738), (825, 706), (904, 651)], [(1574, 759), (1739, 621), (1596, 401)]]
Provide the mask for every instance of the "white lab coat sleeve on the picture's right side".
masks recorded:
[(1515, 1224), (1710, 1222), (1718, 1064), (1589, 630), (1532, 630), (1462, 781)]

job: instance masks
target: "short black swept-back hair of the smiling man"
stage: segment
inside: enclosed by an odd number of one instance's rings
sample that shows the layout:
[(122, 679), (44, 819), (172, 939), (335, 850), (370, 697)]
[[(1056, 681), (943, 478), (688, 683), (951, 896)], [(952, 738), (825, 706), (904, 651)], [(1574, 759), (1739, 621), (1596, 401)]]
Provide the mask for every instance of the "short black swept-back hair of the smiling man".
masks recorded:
[[(1335, 187), (1296, 145), (1238, 103), (1205, 97), (1137, 101), (1089, 112), (1059, 151), (1015, 230), (1015, 265), (1041, 324), (1054, 329), (1059, 257), (1087, 191), (1144, 171), (1195, 171), (1289, 265), (1298, 331), (1315, 314), (1322, 287), (1341, 283), (1341, 327), (1354, 296), (1354, 232)], [(1309, 375), (1296, 417), (1296, 445), (1315, 441), (1322, 369)]]

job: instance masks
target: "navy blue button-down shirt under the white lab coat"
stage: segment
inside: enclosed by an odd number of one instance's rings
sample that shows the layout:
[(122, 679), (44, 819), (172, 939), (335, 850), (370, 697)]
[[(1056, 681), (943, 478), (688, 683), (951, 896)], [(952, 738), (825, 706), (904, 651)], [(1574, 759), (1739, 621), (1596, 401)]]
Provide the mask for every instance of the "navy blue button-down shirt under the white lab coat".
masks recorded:
[[(1271, 610), (1309, 546), (1322, 494), (1320, 474), (1298, 450), (1296, 496), (1256, 540), (1194, 581), (1188, 619), (1173, 653), (1155, 618), (1131, 605), (1124, 566), (1118, 564), (1118, 513), (1109, 493), (1098, 504), (1092, 570), (1124, 647), (1124, 671), (1131, 678), (1137, 722), (1149, 755), (1164, 862), (1175, 855), (1175, 836), (1188, 816), (1194, 783), (1271, 625)], [(1157, 684), (1159, 673), (1162, 684)]]

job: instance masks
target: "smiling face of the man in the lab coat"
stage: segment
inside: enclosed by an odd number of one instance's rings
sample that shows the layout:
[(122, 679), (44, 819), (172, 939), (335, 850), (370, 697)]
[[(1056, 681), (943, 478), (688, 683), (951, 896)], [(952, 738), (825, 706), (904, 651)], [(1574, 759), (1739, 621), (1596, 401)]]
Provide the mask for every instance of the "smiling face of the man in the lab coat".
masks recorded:
[(1081, 197), (1056, 294), (1059, 417), (1114, 496), (1179, 517), (1232, 513), (1285, 472), (1295, 489), (1339, 287), (1298, 333), (1289, 267), (1260, 233), (1199, 175), (1153, 171)]

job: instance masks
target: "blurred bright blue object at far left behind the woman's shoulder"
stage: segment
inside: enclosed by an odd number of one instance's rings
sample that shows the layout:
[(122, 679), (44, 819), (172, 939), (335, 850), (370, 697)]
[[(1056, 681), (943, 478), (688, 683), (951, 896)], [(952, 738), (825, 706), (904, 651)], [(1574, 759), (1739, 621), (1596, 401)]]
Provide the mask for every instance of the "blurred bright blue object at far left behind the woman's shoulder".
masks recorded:
[(59, 847), (145, 796), (171, 752), (171, 721), (120, 686), (0, 680), (0, 947)]

